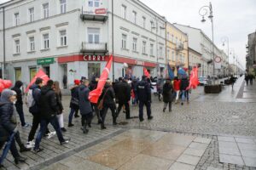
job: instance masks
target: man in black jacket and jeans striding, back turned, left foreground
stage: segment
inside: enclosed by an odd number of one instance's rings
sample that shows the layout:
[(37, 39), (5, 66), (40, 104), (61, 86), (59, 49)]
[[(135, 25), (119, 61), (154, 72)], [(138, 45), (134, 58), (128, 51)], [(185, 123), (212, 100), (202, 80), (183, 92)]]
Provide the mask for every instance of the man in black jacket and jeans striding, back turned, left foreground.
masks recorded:
[(34, 150), (36, 152), (42, 151), (43, 149), (39, 148), (39, 144), (41, 142), (41, 139), (46, 131), (46, 127), (50, 123), (57, 133), (58, 139), (61, 144), (67, 144), (69, 142), (69, 139), (64, 139), (61, 133), (61, 127), (59, 125), (58, 119), (57, 119), (57, 99), (55, 95), (54, 88), (54, 82), (52, 80), (49, 80), (47, 82), (47, 85), (41, 88), (41, 96), (39, 99), (39, 110), (40, 110), (40, 116), (41, 116), (41, 122), (40, 122), (40, 130), (38, 132), (38, 136), (36, 139)]

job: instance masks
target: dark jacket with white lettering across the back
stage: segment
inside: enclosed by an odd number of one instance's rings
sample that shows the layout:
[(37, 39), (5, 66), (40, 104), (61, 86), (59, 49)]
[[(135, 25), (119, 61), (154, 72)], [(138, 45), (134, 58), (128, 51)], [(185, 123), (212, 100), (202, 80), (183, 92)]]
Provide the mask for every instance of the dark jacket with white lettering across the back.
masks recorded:
[(151, 88), (149, 82), (142, 80), (137, 83), (137, 96), (139, 101), (151, 102)]

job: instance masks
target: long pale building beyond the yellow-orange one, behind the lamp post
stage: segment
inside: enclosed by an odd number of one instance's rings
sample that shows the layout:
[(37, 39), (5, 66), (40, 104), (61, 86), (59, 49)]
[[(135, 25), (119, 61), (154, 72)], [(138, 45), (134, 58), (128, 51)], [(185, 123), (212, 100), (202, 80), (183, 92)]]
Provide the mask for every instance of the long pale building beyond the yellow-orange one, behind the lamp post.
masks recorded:
[[(227, 55), (223, 56), (221, 50), (213, 44), (214, 50), (214, 62), (212, 59), (212, 40), (201, 31), (201, 29), (194, 28), (191, 26), (183, 26), (175, 23), (178, 29), (185, 32), (189, 37), (189, 48), (192, 48), (199, 54), (201, 54), (201, 76), (202, 77), (213, 77), (213, 63), (215, 63), (215, 77), (223, 77), (224, 63), (228, 60)], [(217, 62), (218, 61), (218, 62)]]

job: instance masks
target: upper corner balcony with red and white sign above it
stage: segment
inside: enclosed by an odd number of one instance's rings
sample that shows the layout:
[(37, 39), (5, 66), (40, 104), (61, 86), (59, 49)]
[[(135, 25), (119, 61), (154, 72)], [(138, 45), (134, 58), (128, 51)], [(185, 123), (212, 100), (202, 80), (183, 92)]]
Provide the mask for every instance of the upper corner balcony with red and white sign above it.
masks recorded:
[(101, 21), (108, 20), (107, 8), (96, 8), (95, 10), (84, 11), (82, 8), (82, 14), (80, 14), (81, 20)]

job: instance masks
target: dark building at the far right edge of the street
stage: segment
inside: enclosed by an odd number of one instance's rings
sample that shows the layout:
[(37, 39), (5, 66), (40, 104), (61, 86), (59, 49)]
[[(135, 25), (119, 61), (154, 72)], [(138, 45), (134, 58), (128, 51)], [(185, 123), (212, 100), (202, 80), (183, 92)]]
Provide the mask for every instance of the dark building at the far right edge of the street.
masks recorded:
[(256, 31), (248, 35), (246, 60), (247, 71), (253, 72), (254, 69), (256, 70)]

